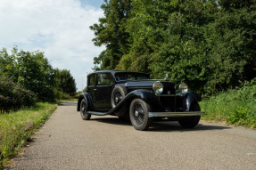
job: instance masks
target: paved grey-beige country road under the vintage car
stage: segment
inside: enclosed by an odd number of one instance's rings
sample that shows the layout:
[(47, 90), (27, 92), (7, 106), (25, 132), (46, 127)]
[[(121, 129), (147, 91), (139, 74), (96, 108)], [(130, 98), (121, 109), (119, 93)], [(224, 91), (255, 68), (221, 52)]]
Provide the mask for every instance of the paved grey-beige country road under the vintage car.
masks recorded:
[(256, 131), (201, 121), (136, 131), (117, 117), (81, 119), (62, 103), (6, 169), (256, 169)]

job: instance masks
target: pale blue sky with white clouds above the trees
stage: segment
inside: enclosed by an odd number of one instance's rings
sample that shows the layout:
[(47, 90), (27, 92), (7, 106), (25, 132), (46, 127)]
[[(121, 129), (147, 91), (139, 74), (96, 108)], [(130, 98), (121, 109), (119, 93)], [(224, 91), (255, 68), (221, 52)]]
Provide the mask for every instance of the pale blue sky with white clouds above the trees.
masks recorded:
[(87, 85), (95, 46), (89, 26), (103, 17), (103, 0), (0, 0), (0, 49), (45, 53), (54, 69), (68, 69), (78, 91)]

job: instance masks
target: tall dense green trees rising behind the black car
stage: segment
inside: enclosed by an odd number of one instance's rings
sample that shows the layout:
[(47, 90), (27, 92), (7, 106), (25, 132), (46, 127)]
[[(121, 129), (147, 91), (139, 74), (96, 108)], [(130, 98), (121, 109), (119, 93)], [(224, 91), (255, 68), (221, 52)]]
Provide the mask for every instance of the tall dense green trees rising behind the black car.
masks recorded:
[[(105, 0), (95, 69), (151, 73), (215, 93), (256, 75), (255, 1)], [(125, 35), (125, 36), (124, 36)]]

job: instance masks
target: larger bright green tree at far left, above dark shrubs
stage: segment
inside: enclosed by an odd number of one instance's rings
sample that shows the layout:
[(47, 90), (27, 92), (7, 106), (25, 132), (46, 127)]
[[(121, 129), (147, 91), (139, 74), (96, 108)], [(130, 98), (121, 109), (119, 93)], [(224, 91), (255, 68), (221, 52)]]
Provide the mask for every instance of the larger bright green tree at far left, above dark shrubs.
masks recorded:
[(12, 48), (9, 55), (1, 51), (2, 73), (22, 88), (36, 94), (41, 101), (54, 101), (54, 69), (42, 52), (18, 51)]

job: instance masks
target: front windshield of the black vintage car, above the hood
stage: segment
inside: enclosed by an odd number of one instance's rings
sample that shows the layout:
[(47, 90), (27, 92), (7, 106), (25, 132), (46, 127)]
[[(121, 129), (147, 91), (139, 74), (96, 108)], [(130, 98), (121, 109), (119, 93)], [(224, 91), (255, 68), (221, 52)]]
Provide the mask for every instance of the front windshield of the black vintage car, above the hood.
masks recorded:
[(121, 72), (115, 74), (117, 81), (126, 80), (149, 80), (149, 75), (144, 73)]

